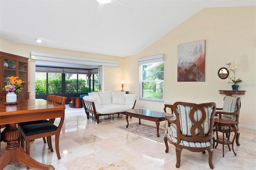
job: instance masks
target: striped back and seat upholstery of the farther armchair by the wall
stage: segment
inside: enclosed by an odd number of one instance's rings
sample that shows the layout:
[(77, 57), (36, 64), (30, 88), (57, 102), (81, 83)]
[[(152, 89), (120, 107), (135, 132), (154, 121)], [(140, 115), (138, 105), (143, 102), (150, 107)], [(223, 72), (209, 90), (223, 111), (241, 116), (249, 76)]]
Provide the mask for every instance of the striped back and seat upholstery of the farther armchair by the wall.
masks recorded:
[[(236, 101), (239, 97), (236, 96), (226, 96), (224, 98), (223, 111), (227, 113), (232, 113), (236, 111)], [(235, 115), (224, 115), (230, 119), (236, 120)]]

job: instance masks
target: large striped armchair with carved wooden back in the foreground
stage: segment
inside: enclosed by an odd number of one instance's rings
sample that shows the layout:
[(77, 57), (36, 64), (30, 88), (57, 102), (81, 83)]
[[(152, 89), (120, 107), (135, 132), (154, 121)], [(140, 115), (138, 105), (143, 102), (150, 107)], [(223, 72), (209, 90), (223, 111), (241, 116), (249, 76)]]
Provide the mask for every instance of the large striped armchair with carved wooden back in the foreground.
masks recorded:
[(212, 164), (212, 137), (214, 114), (216, 111), (215, 103), (185, 103), (176, 102), (173, 105), (175, 118), (166, 116), (168, 121), (164, 142), (165, 152), (169, 151), (168, 142), (176, 147), (176, 168), (180, 167), (180, 155), (182, 149), (192, 152), (209, 153), (209, 166)]

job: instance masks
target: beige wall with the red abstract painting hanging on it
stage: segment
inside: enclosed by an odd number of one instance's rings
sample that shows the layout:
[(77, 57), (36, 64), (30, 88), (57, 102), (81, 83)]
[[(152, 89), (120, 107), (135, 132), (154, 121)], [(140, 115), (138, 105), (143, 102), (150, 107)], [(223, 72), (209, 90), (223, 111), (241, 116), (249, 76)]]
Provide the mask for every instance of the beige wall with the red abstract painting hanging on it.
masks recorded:
[[(229, 79), (217, 75), (225, 63), (236, 61), (236, 76), (242, 79), (240, 125), (256, 128), (256, 23), (255, 7), (205, 8), (189, 20), (150, 45), (138, 55), (124, 58), (124, 80), (130, 92), (139, 94), (137, 59), (164, 54), (164, 102), (214, 101), (222, 107), (225, 95), (220, 89), (231, 90)], [(205, 82), (177, 82), (177, 47), (179, 44), (206, 40)], [(137, 101), (136, 107), (163, 111), (163, 103)]]

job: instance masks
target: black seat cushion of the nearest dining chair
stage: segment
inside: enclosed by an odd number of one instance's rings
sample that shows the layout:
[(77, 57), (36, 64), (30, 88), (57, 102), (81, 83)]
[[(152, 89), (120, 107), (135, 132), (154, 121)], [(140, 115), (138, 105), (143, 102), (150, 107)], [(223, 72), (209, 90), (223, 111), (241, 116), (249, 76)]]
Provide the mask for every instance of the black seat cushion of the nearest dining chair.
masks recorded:
[(37, 124), (22, 126), (20, 128), (20, 130), (22, 130), (22, 132), (24, 132), (24, 134), (26, 136), (50, 132), (50, 131), (54, 131), (56, 129), (57, 129), (57, 127), (55, 125), (53, 125), (52, 123), (37, 123)]

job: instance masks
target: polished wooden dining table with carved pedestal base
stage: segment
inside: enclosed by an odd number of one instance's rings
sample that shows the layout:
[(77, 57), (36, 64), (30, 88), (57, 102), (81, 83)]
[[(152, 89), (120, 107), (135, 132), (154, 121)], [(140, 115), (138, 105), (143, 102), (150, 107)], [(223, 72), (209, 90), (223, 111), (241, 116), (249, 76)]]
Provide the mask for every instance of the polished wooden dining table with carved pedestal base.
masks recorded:
[(36, 169), (54, 170), (54, 166), (42, 164), (31, 158), (18, 143), (20, 129), (17, 123), (42, 119), (64, 118), (65, 105), (58, 105), (44, 99), (20, 100), (8, 105), (0, 102), (0, 125), (5, 125), (4, 140), (7, 146), (0, 156), (0, 170), (8, 164), (21, 162)]

